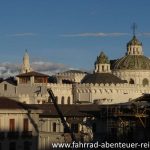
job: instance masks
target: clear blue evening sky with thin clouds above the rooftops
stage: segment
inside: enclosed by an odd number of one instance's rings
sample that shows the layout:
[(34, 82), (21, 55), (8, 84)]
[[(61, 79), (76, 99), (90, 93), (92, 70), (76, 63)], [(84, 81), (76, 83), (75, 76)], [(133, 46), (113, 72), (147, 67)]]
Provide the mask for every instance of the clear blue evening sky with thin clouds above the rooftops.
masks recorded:
[(149, 0), (0, 0), (0, 74), (19, 69), (25, 49), (37, 71), (93, 70), (101, 51), (125, 54), (133, 23), (149, 57), (149, 8)]

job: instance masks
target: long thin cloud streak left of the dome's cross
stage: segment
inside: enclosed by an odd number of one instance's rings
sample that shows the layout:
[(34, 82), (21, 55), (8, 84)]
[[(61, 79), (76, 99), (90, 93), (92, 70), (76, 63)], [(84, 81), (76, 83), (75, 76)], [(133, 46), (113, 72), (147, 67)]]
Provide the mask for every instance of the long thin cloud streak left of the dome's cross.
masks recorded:
[(112, 32), (112, 33), (74, 33), (74, 34), (61, 34), (62, 37), (118, 37), (129, 35), (129, 33)]

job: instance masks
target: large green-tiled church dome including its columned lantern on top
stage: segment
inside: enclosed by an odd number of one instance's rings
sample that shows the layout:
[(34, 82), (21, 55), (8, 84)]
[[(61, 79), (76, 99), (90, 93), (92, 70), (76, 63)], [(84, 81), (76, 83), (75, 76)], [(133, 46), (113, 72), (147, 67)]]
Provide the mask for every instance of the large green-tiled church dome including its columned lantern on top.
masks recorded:
[(143, 55), (142, 43), (133, 35), (127, 43), (127, 53), (115, 61), (112, 69), (117, 70), (150, 70), (150, 59)]

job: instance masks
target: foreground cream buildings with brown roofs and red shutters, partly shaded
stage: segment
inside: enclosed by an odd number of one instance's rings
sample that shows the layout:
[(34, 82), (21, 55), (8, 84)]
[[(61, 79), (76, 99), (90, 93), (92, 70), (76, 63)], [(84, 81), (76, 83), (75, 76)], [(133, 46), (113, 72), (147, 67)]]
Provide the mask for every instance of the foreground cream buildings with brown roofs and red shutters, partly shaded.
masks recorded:
[[(92, 141), (88, 118), (93, 115), (82, 111), (98, 110), (97, 106), (59, 105), (78, 141)], [(0, 97), (0, 150), (49, 150), (52, 143), (71, 141), (53, 104), (24, 104)]]

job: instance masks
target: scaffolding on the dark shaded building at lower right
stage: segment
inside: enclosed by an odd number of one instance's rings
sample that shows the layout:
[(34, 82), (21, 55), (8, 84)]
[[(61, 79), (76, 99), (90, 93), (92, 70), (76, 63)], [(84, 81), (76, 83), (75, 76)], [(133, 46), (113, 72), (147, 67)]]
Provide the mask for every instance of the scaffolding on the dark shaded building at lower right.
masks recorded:
[(137, 128), (145, 130), (148, 126), (148, 112), (149, 109), (141, 107), (141, 104), (138, 102), (127, 103), (126, 105), (107, 105), (105, 107), (107, 135), (124, 138), (131, 137), (133, 130)]

